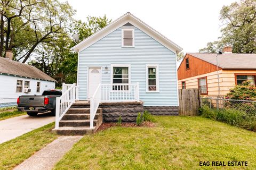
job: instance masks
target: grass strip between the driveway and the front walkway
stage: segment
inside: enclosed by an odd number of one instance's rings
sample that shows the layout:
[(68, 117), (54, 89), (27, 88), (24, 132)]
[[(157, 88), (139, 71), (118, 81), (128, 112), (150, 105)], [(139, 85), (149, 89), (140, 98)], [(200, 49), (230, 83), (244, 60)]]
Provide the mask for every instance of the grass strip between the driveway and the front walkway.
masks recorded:
[(53, 127), (54, 123), (50, 123), (0, 144), (0, 169), (12, 169), (57, 139), (58, 135), (51, 131)]

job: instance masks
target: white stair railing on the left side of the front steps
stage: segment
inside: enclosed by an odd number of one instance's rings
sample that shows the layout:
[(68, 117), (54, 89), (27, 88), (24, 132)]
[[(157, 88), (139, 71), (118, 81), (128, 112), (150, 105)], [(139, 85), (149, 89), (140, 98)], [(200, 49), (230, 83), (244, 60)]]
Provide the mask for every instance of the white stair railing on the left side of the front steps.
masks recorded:
[(76, 100), (76, 83), (62, 84), (62, 95), (56, 98), (55, 129), (59, 128), (61, 118)]

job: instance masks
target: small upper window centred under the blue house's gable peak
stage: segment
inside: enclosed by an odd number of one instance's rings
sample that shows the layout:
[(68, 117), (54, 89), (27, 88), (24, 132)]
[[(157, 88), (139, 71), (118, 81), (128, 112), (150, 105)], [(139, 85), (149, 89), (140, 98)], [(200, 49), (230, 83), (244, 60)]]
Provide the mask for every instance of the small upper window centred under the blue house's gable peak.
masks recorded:
[(131, 28), (122, 29), (122, 46), (123, 47), (134, 46), (134, 29), (131, 29)]

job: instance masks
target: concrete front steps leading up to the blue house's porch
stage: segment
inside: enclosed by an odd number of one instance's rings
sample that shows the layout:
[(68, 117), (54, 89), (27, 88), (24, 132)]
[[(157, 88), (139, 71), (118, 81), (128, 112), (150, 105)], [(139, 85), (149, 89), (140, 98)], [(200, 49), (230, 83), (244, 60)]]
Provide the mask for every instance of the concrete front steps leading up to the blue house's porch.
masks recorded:
[(98, 108), (90, 129), (90, 108), (69, 108), (59, 122), (57, 133), (61, 135), (93, 134), (102, 123), (102, 109)]

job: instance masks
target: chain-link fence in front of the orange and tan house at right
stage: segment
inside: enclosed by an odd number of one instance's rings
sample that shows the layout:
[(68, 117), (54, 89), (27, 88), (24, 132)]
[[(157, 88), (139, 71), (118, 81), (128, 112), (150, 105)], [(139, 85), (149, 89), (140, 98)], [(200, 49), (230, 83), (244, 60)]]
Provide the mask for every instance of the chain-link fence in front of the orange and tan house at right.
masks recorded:
[(212, 109), (232, 109), (246, 114), (256, 115), (256, 101), (223, 99), (222, 97), (203, 97), (201, 107)]

